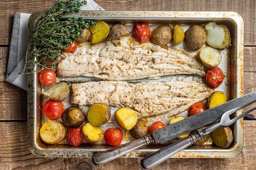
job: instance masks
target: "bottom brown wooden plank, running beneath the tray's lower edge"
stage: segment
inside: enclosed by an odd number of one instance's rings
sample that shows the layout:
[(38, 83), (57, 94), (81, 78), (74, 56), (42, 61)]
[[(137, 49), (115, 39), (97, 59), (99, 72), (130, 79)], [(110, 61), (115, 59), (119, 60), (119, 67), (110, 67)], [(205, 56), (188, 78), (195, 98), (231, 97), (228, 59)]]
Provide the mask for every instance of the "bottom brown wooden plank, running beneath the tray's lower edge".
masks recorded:
[[(244, 121), (244, 147), (235, 158), (172, 158), (152, 168), (153, 170), (241, 170), (255, 169), (256, 121)], [(27, 148), (27, 122), (0, 122), (0, 170), (60, 170), (89, 167), (88, 170), (142, 170), (141, 158), (119, 158), (101, 166), (94, 166), (91, 158), (35, 157)]]

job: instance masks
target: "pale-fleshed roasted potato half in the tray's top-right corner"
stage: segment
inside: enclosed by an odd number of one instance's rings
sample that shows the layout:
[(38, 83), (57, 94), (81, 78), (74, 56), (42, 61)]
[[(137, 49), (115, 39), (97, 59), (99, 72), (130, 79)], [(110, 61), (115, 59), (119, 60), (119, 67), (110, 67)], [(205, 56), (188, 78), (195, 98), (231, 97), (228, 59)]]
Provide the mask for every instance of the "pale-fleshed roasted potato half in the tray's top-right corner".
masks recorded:
[(207, 44), (216, 49), (225, 49), (230, 46), (231, 36), (225, 25), (209, 22), (205, 25)]

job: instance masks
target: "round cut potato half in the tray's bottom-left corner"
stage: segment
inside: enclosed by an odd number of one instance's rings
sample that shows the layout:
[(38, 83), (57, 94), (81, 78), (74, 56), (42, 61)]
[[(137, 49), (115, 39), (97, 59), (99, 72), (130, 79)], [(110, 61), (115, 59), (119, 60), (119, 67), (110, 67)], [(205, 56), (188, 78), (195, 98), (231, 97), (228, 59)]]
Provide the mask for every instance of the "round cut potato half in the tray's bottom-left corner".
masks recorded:
[(40, 137), (47, 144), (56, 144), (63, 141), (67, 135), (67, 130), (61, 122), (49, 119), (40, 128)]

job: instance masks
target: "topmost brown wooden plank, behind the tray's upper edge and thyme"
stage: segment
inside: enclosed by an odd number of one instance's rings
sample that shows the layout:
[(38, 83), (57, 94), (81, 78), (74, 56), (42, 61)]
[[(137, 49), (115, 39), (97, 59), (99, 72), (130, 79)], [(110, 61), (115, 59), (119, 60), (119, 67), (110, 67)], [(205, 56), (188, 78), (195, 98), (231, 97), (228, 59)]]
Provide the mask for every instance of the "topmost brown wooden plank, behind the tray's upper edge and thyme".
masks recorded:
[[(256, 1), (252, 0), (95, 0), (105, 10), (134, 10), (134, 11), (234, 11), (239, 13), (245, 22), (245, 45), (256, 44), (256, 23), (254, 11)], [(0, 0), (0, 44), (10, 43), (11, 28), (14, 12), (33, 13), (38, 10), (47, 9), (54, 0)], [(198, 5), (200, 4), (200, 5)], [(127, 7), (130, 7), (127, 9)]]

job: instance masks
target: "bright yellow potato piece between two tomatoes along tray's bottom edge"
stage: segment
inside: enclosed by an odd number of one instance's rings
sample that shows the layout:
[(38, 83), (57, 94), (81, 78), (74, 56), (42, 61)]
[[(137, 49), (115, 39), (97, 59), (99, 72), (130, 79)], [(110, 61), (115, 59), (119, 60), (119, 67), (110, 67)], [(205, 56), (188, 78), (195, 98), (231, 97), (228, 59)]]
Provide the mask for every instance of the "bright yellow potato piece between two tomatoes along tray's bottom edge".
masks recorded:
[(82, 136), (85, 141), (95, 143), (101, 141), (104, 138), (104, 131), (99, 126), (93, 126), (87, 123), (82, 128)]

